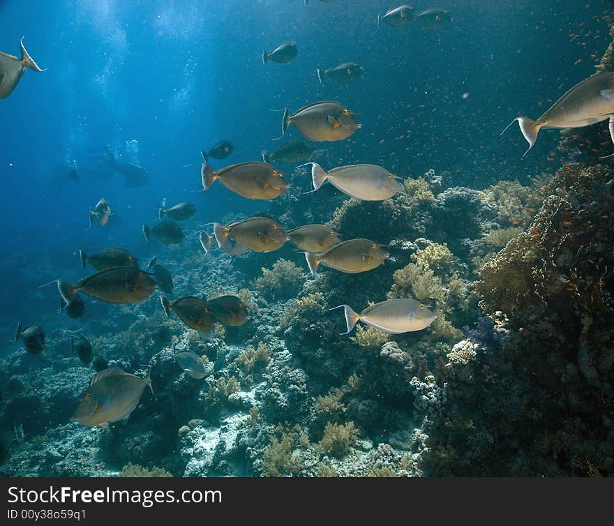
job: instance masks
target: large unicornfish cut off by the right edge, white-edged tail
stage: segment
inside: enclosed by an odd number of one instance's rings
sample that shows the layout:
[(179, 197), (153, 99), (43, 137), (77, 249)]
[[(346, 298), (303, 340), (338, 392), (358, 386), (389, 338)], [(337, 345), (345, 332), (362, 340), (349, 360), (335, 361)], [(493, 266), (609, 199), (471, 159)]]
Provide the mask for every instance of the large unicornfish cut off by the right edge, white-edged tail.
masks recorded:
[(528, 117), (516, 117), (507, 128), (518, 121), (521, 132), (529, 143), (524, 153), (527, 155), (535, 144), (537, 133), (541, 128), (583, 128), (607, 119), (610, 119), (610, 136), (614, 142), (614, 73), (612, 72), (593, 75), (576, 84), (537, 121)]

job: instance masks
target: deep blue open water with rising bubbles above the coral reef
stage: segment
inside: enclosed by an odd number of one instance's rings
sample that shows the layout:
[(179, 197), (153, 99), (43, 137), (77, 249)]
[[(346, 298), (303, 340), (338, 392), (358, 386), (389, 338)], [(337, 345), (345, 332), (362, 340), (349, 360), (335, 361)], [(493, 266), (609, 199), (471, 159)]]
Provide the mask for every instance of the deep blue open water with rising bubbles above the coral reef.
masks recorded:
[[(141, 225), (153, 223), (163, 198), (195, 202), (201, 223), (263, 209), (220, 184), (193, 190), (201, 149), (231, 140), (233, 155), (213, 161), (221, 167), (257, 160), (279, 144), (272, 139), (281, 113), (270, 109), (340, 100), (361, 112), (363, 128), (350, 140), (318, 145), (338, 164), (378, 163), (402, 176), (450, 170), (455, 184), (472, 188), (548, 169), (557, 132), (542, 132), (525, 158), (517, 127), (499, 133), (517, 115), (539, 117), (593, 73), (608, 43), (600, 18), (611, 2), (437, 6), (454, 15), (441, 31), (382, 25), (375, 32), (388, 0), (1, 1), (0, 50), (19, 54), (25, 36), (48, 69), (28, 70), (0, 100), (0, 325), (12, 329), (24, 309), (47, 312), (57, 296), (38, 285), (59, 277), (50, 269), (77, 274), (78, 248), (151, 253)], [(263, 66), (262, 51), (286, 40), (298, 43), (299, 57)], [(317, 82), (316, 68), (343, 61), (361, 63), (364, 77), (347, 86)], [(130, 141), (137, 149), (126, 160), (149, 170), (147, 186), (128, 188), (100, 169), (106, 144), (118, 151)], [(80, 181), (68, 178), (70, 165)], [(117, 215), (110, 227), (89, 230), (100, 197)], [(37, 261), (40, 272), (26, 268)]]

